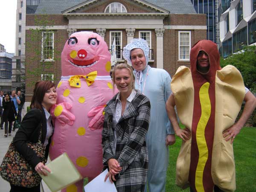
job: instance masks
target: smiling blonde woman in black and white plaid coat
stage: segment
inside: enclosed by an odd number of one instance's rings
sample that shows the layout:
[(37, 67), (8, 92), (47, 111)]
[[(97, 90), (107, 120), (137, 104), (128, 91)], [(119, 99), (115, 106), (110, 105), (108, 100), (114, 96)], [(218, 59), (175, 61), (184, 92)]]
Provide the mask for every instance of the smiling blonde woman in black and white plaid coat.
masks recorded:
[(144, 192), (148, 171), (145, 135), (150, 122), (150, 102), (134, 89), (133, 70), (119, 64), (113, 70), (119, 90), (105, 107), (102, 131), (105, 180), (115, 181), (118, 192)]

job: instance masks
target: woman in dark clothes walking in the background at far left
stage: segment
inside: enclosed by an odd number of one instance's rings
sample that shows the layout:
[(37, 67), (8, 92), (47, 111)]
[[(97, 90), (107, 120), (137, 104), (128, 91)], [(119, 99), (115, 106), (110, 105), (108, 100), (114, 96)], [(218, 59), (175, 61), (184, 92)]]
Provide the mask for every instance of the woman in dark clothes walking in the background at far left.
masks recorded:
[[(4, 125), (4, 137), (7, 137), (7, 132), (9, 136), (12, 132), (12, 122), (15, 121), (15, 116), (17, 116), (17, 112), (15, 110), (15, 106), (13, 101), (11, 100), (9, 94), (7, 93), (3, 99), (3, 122)], [(9, 122), (9, 130), (8, 130), (8, 122)]]

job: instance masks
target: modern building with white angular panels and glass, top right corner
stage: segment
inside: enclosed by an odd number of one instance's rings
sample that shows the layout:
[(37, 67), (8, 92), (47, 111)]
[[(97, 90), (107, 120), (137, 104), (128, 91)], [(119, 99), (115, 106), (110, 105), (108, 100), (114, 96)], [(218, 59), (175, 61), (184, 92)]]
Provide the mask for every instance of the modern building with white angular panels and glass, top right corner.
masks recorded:
[(256, 0), (219, 0), (221, 55), (256, 45)]

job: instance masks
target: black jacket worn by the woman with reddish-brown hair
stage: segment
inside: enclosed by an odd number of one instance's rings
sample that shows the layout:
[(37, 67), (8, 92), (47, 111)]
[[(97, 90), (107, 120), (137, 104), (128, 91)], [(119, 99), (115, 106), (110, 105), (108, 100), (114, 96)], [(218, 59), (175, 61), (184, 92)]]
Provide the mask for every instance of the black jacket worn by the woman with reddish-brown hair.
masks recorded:
[[(42, 124), (42, 125), (41, 125)], [(42, 139), (44, 143), (47, 133), (47, 122), (44, 109), (31, 109), (24, 116), (20, 128), (15, 134), (13, 143), (17, 148), (17, 151), (26, 159), (26, 161), (33, 167), (40, 163), (42, 160), (38, 157), (35, 152), (27, 146), (27, 142), (37, 143), (39, 139), (39, 133), (42, 127)], [(51, 143), (51, 137), (49, 138), (48, 145), (45, 150), (45, 157), (48, 157), (49, 144)]]

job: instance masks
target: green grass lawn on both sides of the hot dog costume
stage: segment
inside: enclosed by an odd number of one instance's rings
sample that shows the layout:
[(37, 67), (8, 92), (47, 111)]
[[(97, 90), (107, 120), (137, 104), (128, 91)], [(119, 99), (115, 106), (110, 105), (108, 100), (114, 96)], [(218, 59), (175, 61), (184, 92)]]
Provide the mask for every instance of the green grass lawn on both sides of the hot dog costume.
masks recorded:
[[(166, 192), (189, 192), (175, 185), (175, 165), (181, 139), (169, 147), (169, 167)], [(243, 128), (234, 141), (236, 162), (236, 192), (256, 192), (256, 128)]]

